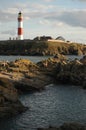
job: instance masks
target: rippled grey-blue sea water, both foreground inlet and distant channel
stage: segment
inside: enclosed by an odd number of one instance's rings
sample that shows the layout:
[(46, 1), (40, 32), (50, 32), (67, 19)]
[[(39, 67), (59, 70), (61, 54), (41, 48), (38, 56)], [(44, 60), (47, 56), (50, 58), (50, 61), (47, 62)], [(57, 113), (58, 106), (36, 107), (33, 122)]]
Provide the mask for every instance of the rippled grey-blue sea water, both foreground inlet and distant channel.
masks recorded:
[[(34, 63), (49, 57), (0, 56), (0, 61), (29, 59)], [(69, 60), (82, 56), (68, 56)], [(19, 100), (29, 109), (17, 116), (0, 120), (0, 130), (37, 130), (57, 127), (64, 122), (86, 124), (86, 90), (73, 85), (49, 84), (40, 92), (27, 92)]]

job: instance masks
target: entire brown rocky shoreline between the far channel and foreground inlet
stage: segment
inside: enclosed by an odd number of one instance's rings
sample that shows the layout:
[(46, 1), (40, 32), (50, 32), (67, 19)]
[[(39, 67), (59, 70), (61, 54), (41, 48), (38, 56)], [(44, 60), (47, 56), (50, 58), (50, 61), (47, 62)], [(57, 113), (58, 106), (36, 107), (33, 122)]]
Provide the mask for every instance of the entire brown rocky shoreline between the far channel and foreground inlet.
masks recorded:
[(0, 62), (0, 117), (26, 110), (18, 99), (20, 91), (40, 91), (51, 83), (86, 88), (86, 56), (69, 61), (58, 54), (37, 64), (26, 59)]

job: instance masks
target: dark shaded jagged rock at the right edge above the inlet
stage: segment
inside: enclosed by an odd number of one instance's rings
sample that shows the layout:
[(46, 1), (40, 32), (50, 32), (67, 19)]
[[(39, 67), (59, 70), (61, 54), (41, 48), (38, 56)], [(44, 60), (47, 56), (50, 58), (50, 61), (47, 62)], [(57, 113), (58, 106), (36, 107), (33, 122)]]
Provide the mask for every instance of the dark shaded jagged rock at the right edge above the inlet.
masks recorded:
[(80, 85), (85, 88), (86, 81), (86, 59), (74, 60), (61, 65), (62, 71), (57, 72), (57, 81)]

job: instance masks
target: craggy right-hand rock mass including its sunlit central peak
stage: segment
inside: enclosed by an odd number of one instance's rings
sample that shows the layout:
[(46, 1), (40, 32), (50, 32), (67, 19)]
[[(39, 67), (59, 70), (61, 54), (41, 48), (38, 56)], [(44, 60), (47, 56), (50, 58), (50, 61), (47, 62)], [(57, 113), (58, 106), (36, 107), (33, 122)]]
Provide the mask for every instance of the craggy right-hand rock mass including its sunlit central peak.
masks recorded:
[(86, 56), (69, 61), (63, 55), (37, 63), (42, 71), (52, 76), (56, 84), (72, 84), (86, 88)]

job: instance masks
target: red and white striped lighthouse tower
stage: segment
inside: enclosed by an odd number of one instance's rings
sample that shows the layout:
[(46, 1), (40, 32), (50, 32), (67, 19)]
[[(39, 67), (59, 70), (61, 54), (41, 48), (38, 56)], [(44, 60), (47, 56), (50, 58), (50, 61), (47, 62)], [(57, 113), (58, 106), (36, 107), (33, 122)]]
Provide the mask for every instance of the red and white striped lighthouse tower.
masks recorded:
[(23, 15), (18, 13), (18, 40), (23, 40)]

